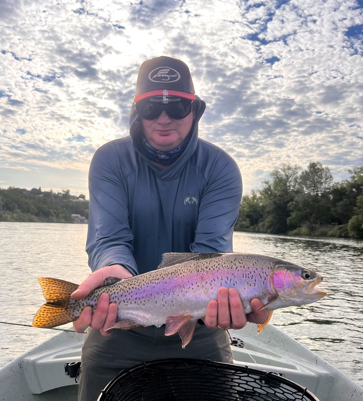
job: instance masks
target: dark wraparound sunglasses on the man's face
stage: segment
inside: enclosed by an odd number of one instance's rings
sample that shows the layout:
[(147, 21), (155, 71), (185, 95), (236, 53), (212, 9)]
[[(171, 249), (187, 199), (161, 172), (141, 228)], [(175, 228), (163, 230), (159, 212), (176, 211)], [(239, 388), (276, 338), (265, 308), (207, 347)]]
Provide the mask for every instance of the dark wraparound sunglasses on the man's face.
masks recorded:
[(136, 113), (146, 120), (154, 120), (159, 117), (163, 110), (166, 114), (175, 120), (181, 120), (187, 117), (192, 111), (192, 101), (188, 99), (178, 99), (169, 103), (161, 103), (147, 98), (135, 103)]

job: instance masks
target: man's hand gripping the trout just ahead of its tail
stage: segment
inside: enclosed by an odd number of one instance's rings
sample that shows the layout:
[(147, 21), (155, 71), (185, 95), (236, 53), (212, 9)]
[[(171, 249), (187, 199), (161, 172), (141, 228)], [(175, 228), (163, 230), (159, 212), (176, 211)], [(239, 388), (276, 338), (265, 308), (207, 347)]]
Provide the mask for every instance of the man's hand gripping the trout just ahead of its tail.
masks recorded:
[[(132, 274), (122, 265), (105, 266), (90, 274), (85, 281), (71, 295), (74, 299), (83, 299), (97, 287), (101, 287), (107, 277), (132, 277)], [(79, 318), (73, 322), (73, 328), (77, 333), (83, 333), (88, 326), (100, 329), (103, 336), (107, 337), (105, 330), (115, 324), (117, 317), (117, 305), (109, 304), (110, 298), (105, 292), (98, 298), (97, 308), (92, 315), (92, 308), (83, 309)]]

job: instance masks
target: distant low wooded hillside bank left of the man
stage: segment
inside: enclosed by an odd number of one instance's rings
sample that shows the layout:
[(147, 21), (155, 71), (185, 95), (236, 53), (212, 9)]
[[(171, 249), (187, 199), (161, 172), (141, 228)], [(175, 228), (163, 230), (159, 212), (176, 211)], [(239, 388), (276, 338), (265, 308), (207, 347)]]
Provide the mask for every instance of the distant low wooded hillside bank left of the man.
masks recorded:
[(42, 191), (41, 187), (0, 188), (0, 221), (28, 223), (87, 223), (89, 201), (85, 195)]

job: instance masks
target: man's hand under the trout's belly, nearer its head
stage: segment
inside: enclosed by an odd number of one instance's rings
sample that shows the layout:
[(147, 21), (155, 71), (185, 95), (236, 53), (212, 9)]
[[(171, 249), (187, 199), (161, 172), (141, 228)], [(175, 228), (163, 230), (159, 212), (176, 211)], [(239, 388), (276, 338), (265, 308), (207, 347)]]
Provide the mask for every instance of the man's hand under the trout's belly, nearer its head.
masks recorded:
[(218, 291), (218, 302), (213, 300), (207, 306), (207, 314), (204, 323), (210, 328), (243, 328), (247, 322), (264, 323), (267, 320), (267, 311), (264, 309), (258, 310), (264, 304), (258, 299), (253, 298), (251, 301), (252, 312), (245, 315), (241, 298), (235, 288), (227, 290), (221, 287)]

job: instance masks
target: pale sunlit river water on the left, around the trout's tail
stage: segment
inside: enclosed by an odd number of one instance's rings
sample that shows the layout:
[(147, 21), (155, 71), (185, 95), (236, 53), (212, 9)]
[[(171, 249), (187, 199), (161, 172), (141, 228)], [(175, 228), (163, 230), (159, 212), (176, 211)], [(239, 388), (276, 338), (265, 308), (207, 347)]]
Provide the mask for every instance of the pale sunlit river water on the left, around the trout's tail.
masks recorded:
[[(87, 277), (86, 234), (87, 225), (82, 224), (0, 222), (1, 321), (31, 324), (44, 303), (38, 277), (75, 283)], [(55, 334), (0, 324), (0, 367)]]

